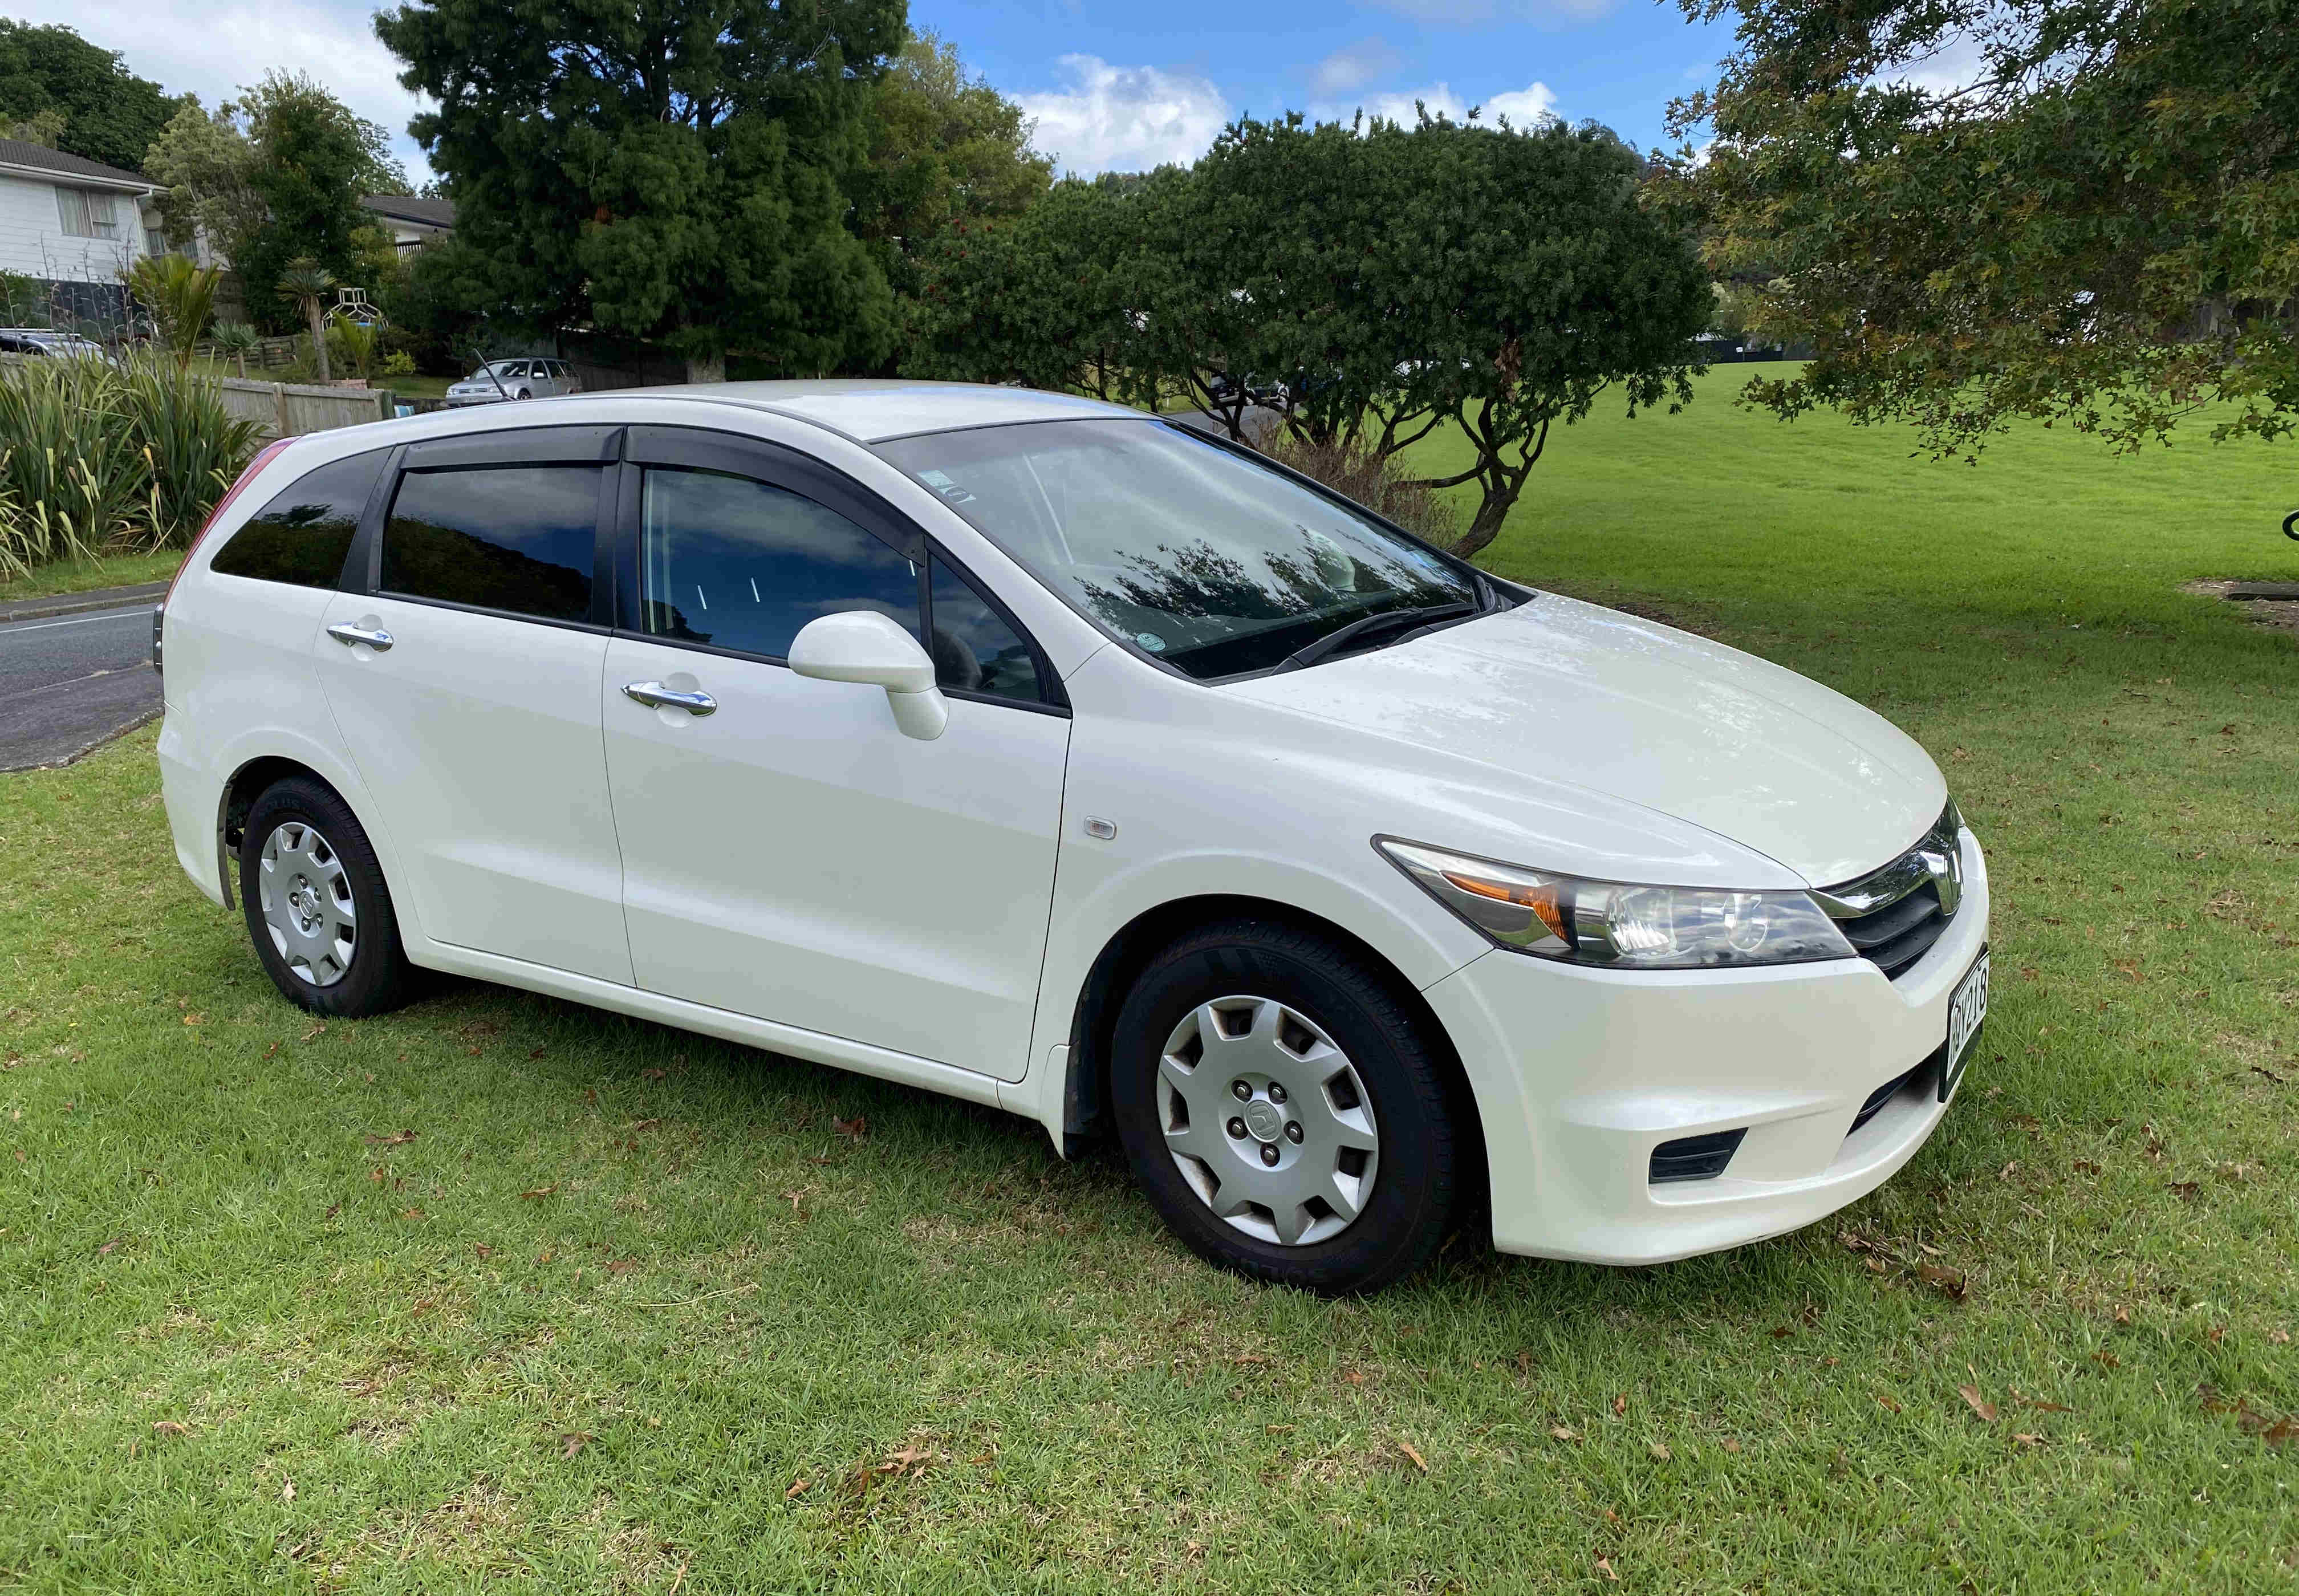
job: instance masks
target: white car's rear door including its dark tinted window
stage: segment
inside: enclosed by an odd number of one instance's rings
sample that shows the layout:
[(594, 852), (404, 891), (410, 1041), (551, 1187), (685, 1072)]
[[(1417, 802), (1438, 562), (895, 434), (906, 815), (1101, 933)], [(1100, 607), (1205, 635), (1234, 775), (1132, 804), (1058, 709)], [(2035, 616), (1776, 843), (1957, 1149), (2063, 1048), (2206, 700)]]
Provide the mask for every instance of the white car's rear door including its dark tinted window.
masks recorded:
[(600, 752), (618, 432), (409, 446), (313, 649), (418, 929), (628, 984)]

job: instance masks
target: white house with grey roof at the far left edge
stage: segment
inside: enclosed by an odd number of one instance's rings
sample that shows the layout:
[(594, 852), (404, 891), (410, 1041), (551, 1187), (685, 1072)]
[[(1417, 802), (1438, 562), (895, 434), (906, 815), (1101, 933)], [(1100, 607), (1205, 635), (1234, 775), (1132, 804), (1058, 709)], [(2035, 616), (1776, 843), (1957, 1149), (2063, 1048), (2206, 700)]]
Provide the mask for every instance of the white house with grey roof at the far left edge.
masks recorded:
[(0, 138), (0, 271), (48, 283), (57, 324), (120, 322), (120, 274), (168, 251), (156, 193), (117, 166)]

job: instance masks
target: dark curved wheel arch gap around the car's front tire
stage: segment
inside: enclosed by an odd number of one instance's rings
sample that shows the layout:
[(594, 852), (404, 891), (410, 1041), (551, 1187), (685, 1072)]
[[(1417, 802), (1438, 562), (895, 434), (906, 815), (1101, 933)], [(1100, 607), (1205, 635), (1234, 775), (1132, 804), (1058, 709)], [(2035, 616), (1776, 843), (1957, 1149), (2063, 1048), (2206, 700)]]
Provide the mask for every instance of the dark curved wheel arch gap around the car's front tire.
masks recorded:
[(1078, 1145), (1108, 1131), (1110, 1102), (1110, 1042), (1117, 1028), (1117, 1010), (1124, 1007), (1133, 977), (1177, 938), (1214, 920), (1269, 920), (1299, 931), (1322, 936), (1356, 959), (1379, 970), (1391, 993), (1414, 1016), (1432, 1049), (1453, 1095), (1453, 1106), (1462, 1115), (1467, 1143), (1476, 1168), (1462, 1182), (1464, 1191), (1485, 1189), (1485, 1120), (1476, 1102), (1476, 1088), (1462, 1067), (1460, 1051), (1437, 1010), (1405, 980), (1398, 966), (1379, 947), (1340, 927), (1324, 915), (1248, 895), (1200, 895), (1179, 897), (1138, 913), (1120, 927), (1094, 957), (1078, 989), (1078, 1003), (1069, 1023), (1067, 1079), (1062, 1081), (1062, 1157), (1074, 1157)]

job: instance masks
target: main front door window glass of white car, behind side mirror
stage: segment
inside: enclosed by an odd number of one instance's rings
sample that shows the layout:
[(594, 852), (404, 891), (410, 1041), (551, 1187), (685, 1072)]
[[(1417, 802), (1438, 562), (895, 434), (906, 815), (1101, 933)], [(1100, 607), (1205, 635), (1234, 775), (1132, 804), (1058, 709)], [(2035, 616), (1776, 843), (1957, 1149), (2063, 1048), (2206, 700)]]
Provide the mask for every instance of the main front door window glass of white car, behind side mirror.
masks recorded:
[(639, 513), (648, 637), (782, 660), (807, 621), (841, 609), (876, 609), (917, 635), (917, 568), (805, 494), (651, 467)]

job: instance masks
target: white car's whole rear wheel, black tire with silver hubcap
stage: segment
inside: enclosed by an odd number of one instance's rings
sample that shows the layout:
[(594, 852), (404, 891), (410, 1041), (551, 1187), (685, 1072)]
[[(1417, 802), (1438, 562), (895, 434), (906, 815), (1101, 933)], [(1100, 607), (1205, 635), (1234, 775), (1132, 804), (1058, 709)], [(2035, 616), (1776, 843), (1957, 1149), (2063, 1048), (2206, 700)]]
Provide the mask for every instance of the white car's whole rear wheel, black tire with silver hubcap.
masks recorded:
[(375, 846), (324, 782), (287, 777), (253, 803), (239, 839), (239, 906), (255, 957), (297, 1007), (361, 1019), (414, 996)]

